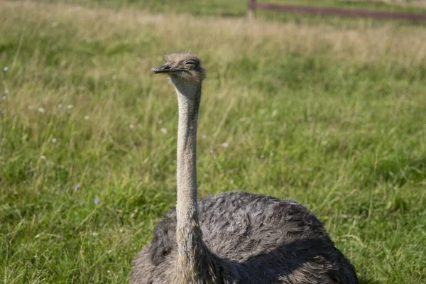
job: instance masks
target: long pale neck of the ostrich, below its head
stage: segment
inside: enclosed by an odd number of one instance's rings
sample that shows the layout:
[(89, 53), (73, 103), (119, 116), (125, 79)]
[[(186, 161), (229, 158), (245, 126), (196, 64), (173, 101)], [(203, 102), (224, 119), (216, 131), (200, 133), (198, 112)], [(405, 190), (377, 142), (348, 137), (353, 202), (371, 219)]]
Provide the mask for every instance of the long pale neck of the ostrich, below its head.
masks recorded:
[[(173, 80), (172, 80), (173, 81)], [(173, 82), (179, 102), (178, 125), (178, 241), (177, 283), (222, 283), (216, 257), (202, 240), (197, 211), (197, 119), (201, 82)]]

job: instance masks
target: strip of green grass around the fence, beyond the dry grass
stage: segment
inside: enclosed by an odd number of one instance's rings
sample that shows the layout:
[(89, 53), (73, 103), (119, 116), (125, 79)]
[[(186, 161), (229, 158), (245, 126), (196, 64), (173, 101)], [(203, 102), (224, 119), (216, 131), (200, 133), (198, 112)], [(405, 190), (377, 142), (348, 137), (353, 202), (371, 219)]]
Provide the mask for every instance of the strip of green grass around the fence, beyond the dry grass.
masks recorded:
[[(15, 0), (20, 1), (20, 0)], [(174, 13), (192, 16), (219, 16), (222, 18), (244, 17), (248, 11), (247, 0), (36, 0), (42, 3), (78, 4), (91, 9), (107, 7), (119, 11), (121, 9), (143, 9), (151, 13)], [(367, 9), (378, 11), (405, 11), (426, 13), (426, 6), (416, 1), (381, 1), (381, 0), (261, 0), (263, 3), (299, 4), (311, 6), (335, 6), (345, 9)], [(324, 23), (336, 27), (351, 28), (361, 21), (371, 26), (383, 26), (392, 20), (378, 18), (352, 18), (342, 16), (320, 16), (307, 13), (283, 13), (274, 11), (256, 11), (256, 18), (267, 21), (301, 23), (303, 25), (321, 25)], [(395, 21), (395, 20), (393, 20)], [(399, 25), (426, 26), (421, 21), (395, 21)]]

